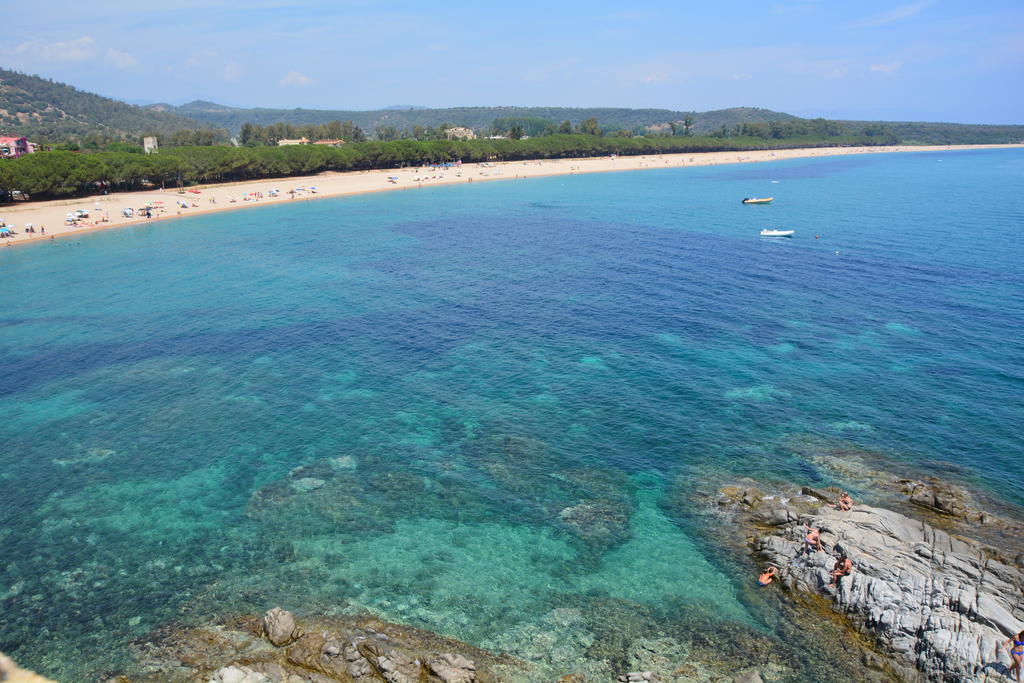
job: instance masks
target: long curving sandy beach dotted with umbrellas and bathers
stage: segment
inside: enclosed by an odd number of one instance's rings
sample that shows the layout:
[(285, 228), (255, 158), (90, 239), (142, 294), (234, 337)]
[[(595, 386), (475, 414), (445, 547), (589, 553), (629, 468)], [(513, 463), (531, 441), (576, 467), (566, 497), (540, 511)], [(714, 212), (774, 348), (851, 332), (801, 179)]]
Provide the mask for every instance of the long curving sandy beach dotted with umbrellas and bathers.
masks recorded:
[[(950, 152), (997, 147), (1024, 147), (1020, 144), (943, 145), (943, 146), (879, 146), (819, 147), (799, 150), (764, 150), (751, 152), (710, 152), (644, 157), (600, 157), (593, 159), (558, 159), (539, 161), (493, 162), (463, 164), (442, 170), (427, 167), (383, 169), (374, 171), (327, 172), (304, 177), (248, 180), (237, 183), (196, 185), (187, 190), (173, 188), (139, 193), (115, 193), (49, 202), (14, 203), (0, 208), (0, 220), (13, 234), (2, 240), (11, 247), (44, 240), (66, 240), (94, 230), (124, 225), (165, 221), (215, 211), (230, 211), (271, 204), (308, 201), (327, 197), (342, 197), (392, 189), (417, 189), (429, 185), (457, 182), (511, 180), (547, 175), (601, 173), (652, 168), (711, 166), (782, 161), (811, 157), (833, 157), (896, 152)], [(151, 217), (138, 212), (152, 207)], [(124, 209), (134, 215), (126, 217)], [(88, 217), (68, 222), (68, 215), (83, 211)], [(26, 231), (31, 225), (35, 231)]]

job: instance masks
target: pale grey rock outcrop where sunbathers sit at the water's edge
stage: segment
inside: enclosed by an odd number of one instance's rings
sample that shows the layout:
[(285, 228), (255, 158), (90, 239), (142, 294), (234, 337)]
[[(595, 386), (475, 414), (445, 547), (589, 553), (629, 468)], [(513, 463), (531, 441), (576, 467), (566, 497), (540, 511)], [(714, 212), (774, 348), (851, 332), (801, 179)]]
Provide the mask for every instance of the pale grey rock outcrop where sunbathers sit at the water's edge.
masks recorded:
[[(752, 550), (779, 569), (797, 598), (818, 596), (890, 655), (883, 667), (906, 680), (974, 681), (1006, 675), (995, 645), (1024, 628), (1024, 571), (1006, 552), (883, 508), (836, 509), (836, 492), (768, 496), (728, 486), (719, 505), (750, 531)], [(824, 552), (801, 555), (805, 524)], [(1004, 549), (1005, 550), (1005, 549)], [(829, 586), (839, 554), (853, 571)]]

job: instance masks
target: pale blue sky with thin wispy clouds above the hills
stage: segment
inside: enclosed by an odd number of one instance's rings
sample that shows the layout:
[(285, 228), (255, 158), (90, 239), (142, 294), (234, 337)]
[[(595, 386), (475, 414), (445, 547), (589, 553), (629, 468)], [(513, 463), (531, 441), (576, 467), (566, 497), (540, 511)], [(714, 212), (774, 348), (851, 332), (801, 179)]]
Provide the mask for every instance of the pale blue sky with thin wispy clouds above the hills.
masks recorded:
[(0, 67), (133, 102), (1024, 124), (1024, 1), (40, 0)]

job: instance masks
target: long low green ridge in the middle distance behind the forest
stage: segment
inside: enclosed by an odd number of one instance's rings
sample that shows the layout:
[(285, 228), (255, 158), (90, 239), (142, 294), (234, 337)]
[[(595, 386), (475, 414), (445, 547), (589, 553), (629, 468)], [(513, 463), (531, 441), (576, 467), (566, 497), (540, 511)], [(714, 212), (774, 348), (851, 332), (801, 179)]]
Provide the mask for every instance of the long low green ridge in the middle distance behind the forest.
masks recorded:
[[(161, 105), (162, 108), (165, 105)], [(442, 123), (467, 128), (482, 129), (495, 119), (545, 119), (555, 124), (569, 121), (577, 125), (586, 119), (595, 118), (606, 130), (650, 128), (683, 121), (693, 117), (693, 133), (710, 133), (723, 125), (735, 126), (743, 123), (767, 123), (769, 121), (796, 120), (791, 114), (771, 110), (737, 108), (715, 112), (674, 112), (672, 110), (631, 110), (617, 108), (574, 109), (563, 106), (460, 106), (452, 109), (406, 109), (388, 108), (368, 112), (345, 110), (276, 110), (239, 109), (223, 106), (214, 102), (188, 102), (181, 106), (162, 109), (186, 116), (208, 126), (227, 128), (238, 133), (243, 124), (252, 123), (268, 126), (274, 123), (295, 125), (325, 124), (331, 121), (351, 121), (370, 134), (377, 126), (394, 126), (408, 129), (413, 126), (434, 128)]]

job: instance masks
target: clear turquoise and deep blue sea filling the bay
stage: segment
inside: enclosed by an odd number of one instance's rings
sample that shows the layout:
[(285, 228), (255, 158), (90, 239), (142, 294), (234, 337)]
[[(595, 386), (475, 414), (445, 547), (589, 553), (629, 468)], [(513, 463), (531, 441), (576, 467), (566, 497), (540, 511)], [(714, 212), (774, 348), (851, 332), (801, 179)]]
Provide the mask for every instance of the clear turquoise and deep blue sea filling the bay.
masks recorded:
[(628, 647), (614, 613), (813, 677), (666, 490), (827, 483), (815, 442), (1020, 502), (1021, 196), (1020, 151), (868, 155), (3, 250), (0, 650), (94, 679), (160, 623), (281, 604), (568, 673)]

